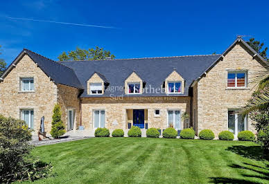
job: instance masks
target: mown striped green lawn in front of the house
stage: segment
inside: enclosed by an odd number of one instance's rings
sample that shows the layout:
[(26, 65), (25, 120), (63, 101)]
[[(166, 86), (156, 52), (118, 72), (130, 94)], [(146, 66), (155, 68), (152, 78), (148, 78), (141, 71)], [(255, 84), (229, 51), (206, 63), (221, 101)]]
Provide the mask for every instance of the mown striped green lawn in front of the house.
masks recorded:
[(90, 138), (36, 147), (55, 176), (36, 183), (269, 183), (253, 142)]

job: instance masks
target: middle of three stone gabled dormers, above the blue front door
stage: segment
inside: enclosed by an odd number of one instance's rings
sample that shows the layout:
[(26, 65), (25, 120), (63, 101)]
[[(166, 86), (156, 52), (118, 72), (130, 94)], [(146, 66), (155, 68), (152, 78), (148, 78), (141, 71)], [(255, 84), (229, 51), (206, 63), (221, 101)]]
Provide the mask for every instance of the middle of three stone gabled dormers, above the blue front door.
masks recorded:
[(129, 77), (125, 80), (125, 94), (126, 95), (135, 95), (143, 93), (143, 80), (139, 77), (139, 75), (133, 71)]

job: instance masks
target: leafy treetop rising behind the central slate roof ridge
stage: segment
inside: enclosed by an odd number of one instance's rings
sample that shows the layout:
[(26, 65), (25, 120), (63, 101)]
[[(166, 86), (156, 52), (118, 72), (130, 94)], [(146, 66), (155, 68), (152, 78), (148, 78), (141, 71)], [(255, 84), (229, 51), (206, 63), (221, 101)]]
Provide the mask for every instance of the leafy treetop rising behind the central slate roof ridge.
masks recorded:
[(76, 50), (71, 50), (67, 53), (64, 51), (58, 56), (58, 59), (60, 59), (60, 61), (84, 61), (92, 59), (105, 59), (106, 57), (111, 57), (112, 59), (115, 58), (115, 56), (112, 55), (109, 50), (104, 50), (103, 48), (96, 46), (95, 49), (89, 48), (86, 50), (77, 47)]

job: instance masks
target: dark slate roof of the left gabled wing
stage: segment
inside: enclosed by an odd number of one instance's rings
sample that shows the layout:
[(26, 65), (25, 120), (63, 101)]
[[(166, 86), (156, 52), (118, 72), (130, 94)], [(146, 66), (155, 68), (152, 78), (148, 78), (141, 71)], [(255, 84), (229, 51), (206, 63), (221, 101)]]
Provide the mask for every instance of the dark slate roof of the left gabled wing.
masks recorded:
[(2, 78), (4, 78), (8, 72), (12, 69), (13, 65), (16, 64), (24, 54), (27, 54), (33, 62), (35, 62), (41, 69), (51, 77), (56, 84), (64, 84), (67, 86), (76, 87), (78, 89), (83, 89), (83, 85), (80, 84), (76, 73), (72, 68), (60, 64), (60, 62), (55, 62), (51, 59), (48, 59), (42, 55), (34, 53), (31, 50), (24, 48), (21, 53), (16, 57), (16, 59), (8, 66), (7, 70), (3, 73)]

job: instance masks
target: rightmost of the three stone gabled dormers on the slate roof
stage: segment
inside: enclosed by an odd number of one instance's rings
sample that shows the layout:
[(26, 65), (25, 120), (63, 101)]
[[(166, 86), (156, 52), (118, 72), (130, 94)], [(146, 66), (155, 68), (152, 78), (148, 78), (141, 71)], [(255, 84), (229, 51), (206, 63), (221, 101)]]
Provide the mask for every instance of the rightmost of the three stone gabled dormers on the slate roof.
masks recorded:
[(184, 93), (184, 78), (177, 71), (173, 71), (166, 77), (164, 82), (165, 92), (167, 94), (183, 94)]

